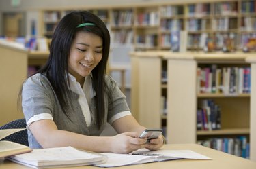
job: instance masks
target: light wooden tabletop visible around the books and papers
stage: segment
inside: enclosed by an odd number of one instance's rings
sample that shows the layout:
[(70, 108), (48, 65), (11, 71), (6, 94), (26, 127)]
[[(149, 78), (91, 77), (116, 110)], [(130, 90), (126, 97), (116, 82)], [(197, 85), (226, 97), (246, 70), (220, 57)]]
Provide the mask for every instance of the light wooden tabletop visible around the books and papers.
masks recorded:
[[(212, 160), (195, 160), (195, 159), (178, 159), (167, 162), (154, 162), (148, 164), (138, 164), (132, 166), (121, 166), (115, 167), (119, 168), (131, 168), (131, 169), (161, 169), (161, 168), (171, 168), (171, 169), (186, 169), (186, 168), (196, 168), (196, 169), (255, 169), (256, 162), (253, 162), (242, 157), (236, 157), (234, 155), (229, 155), (221, 151), (216, 151), (207, 147), (203, 147), (197, 144), (178, 144), (178, 145), (165, 145), (163, 149), (173, 149), (173, 150), (192, 150), (202, 155), (206, 155)], [(5, 160), (0, 163), (0, 169), (28, 169), (29, 167), (16, 164)], [(99, 168), (95, 166), (79, 166), (79, 167), (70, 167), (76, 169), (90, 169), (90, 168)], [(65, 169), (70, 169), (65, 168)]]

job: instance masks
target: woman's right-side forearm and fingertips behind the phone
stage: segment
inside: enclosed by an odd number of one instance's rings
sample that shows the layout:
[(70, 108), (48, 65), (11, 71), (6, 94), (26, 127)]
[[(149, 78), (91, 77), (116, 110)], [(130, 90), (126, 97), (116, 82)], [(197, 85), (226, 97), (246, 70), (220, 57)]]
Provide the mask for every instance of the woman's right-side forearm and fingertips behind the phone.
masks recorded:
[[(139, 134), (145, 130), (144, 126), (141, 126), (132, 115), (126, 115), (120, 119), (117, 119), (113, 122), (113, 128), (117, 133), (122, 132), (136, 132), (136, 137), (139, 138)], [(150, 150), (157, 150), (164, 145), (164, 136), (159, 136), (157, 139), (150, 140), (150, 143), (145, 145), (145, 148)]]

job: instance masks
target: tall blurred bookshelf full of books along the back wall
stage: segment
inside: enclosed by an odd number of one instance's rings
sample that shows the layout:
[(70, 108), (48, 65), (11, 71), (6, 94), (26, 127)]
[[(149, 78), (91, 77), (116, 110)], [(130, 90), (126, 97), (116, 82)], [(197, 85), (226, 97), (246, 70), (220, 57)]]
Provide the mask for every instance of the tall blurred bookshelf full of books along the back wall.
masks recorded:
[(244, 50), (256, 37), (255, 6), (252, 0), (200, 0), (42, 10), (41, 35), (51, 38), (59, 19), (76, 9), (100, 16), (109, 27), (111, 43), (134, 44), (136, 51), (171, 50), (173, 31), (186, 33), (189, 51), (205, 50), (208, 41), (214, 41), (214, 51)]

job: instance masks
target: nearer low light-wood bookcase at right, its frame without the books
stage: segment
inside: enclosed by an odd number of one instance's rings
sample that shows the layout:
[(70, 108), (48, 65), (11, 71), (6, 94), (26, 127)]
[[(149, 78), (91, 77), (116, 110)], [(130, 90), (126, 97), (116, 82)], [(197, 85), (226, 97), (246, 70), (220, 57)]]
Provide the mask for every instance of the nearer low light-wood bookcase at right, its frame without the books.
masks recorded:
[[(253, 142), (252, 140), (250, 140), (251, 137), (254, 135), (253, 132), (250, 132), (250, 118), (251, 114), (253, 113), (250, 111), (251, 94), (247, 92), (242, 92), (241, 94), (239, 92), (232, 93), (231, 90), (223, 93), (201, 93), (198, 92), (199, 81), (197, 79), (198, 68), (205, 67), (205, 65), (217, 65), (218, 67), (222, 67), (223, 69), (225, 67), (251, 67), (251, 65), (245, 61), (248, 54), (238, 52), (229, 54), (193, 54), (192, 57), (184, 56), (182, 58), (181, 56), (180, 59), (174, 57), (173, 55), (175, 54), (167, 54), (166, 57), (164, 56), (164, 58), (167, 58), (168, 62), (167, 75), (169, 77), (168, 82), (170, 83), (168, 83), (169, 85), (167, 85), (167, 132), (169, 134), (167, 138), (171, 139), (171, 143), (180, 142), (181, 140), (184, 140), (184, 142), (186, 142), (187, 140), (189, 140), (206, 145), (210, 144), (210, 141), (218, 140), (218, 143), (215, 144), (224, 147), (225, 141), (228, 142), (231, 140), (233, 141), (233, 144), (236, 144), (239, 138), (246, 139), (245, 141), (249, 142), (250, 146), (253, 146)], [(217, 55), (218, 57), (216, 57)], [(186, 60), (184, 60), (184, 58), (186, 58)], [(176, 64), (179, 64), (179, 67), (175, 66)], [(174, 75), (177, 72), (179, 72), (178, 77), (177, 75)], [(191, 79), (191, 77), (193, 77), (193, 79)], [(231, 83), (229, 84), (231, 85)], [(231, 87), (229, 86), (229, 89), (230, 88)], [(193, 96), (189, 96), (189, 94), (193, 94)], [(184, 96), (188, 97), (189, 99), (182, 99), (182, 97)], [(220, 107), (218, 109), (220, 109), (219, 114), (221, 115), (221, 117), (219, 117), (219, 119), (221, 120), (221, 128), (216, 128), (216, 130), (214, 130), (214, 128), (212, 127), (211, 130), (209, 128), (210, 126), (208, 125), (208, 128), (204, 130), (199, 130), (197, 128), (199, 124), (198, 110), (201, 109), (201, 103), (205, 103), (205, 100), (208, 100), (208, 104), (209, 100), (211, 100), (217, 107)], [(182, 105), (180, 103), (181, 101)], [(184, 107), (184, 105), (186, 105), (186, 107)], [(206, 109), (206, 107), (203, 108)], [(212, 121), (211, 115), (214, 115), (214, 113), (212, 113), (214, 111), (212, 111), (211, 107), (209, 107), (209, 109), (210, 117), (207, 115), (206, 117), (208, 117), (208, 122), (210, 119), (211, 123), (213, 124), (215, 123), (215, 121)], [(181, 120), (183, 120), (184, 124), (187, 125), (184, 126), (177, 123), (177, 121)], [(193, 126), (195, 127), (193, 128), (188, 124), (193, 124)], [(176, 130), (175, 128), (181, 129)], [(188, 134), (186, 134), (188, 132), (192, 132), (193, 136), (188, 137)], [(178, 134), (183, 135), (183, 137), (179, 136)], [(214, 142), (212, 144), (214, 145)], [(246, 144), (244, 145), (246, 146)], [(251, 154), (253, 154), (253, 150), (250, 149), (250, 151)]]

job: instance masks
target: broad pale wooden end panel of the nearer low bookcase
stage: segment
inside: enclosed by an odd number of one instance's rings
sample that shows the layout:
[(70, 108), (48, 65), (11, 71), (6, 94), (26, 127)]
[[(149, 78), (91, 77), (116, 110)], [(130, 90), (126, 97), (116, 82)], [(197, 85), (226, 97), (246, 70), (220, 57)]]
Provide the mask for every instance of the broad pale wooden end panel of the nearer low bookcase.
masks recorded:
[(195, 60), (168, 60), (168, 143), (196, 142), (196, 69)]

